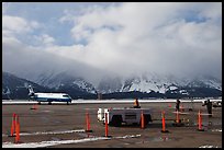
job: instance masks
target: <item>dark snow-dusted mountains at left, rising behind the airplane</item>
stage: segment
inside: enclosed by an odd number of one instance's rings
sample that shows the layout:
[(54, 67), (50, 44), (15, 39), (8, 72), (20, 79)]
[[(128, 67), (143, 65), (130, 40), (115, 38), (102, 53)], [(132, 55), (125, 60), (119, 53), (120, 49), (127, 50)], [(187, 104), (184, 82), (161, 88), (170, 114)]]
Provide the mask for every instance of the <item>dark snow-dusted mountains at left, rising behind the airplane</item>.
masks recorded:
[(32, 85), (35, 92), (66, 92), (72, 99), (97, 97), (92, 84), (66, 73), (42, 76), (38, 78), (40, 82), (22, 79), (8, 72), (2, 74), (2, 99), (29, 99), (29, 85)]

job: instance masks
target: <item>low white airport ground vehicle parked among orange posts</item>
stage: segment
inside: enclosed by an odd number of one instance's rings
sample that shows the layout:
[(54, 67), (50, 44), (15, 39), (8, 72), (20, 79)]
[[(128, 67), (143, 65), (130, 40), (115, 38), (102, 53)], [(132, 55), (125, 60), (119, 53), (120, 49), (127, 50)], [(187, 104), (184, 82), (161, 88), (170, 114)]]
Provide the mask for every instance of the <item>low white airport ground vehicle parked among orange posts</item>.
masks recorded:
[(141, 124), (142, 113), (145, 125), (153, 122), (150, 108), (99, 108), (98, 120), (103, 122), (103, 124), (105, 123), (105, 113), (108, 114), (108, 124), (115, 127), (122, 124)]

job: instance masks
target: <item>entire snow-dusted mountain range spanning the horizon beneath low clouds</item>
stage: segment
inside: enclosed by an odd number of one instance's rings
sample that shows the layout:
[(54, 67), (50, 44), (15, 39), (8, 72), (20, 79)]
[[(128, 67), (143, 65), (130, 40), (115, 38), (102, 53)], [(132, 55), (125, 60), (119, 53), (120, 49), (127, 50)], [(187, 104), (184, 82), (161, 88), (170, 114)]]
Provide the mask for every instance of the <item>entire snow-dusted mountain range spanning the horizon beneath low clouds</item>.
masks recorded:
[(29, 99), (27, 85), (35, 92), (66, 92), (72, 99), (150, 99), (206, 97), (222, 95), (222, 80), (214, 77), (178, 78), (145, 73), (141, 76), (103, 77), (98, 84), (68, 72), (42, 73), (35, 79), (23, 79), (2, 72), (2, 99)]

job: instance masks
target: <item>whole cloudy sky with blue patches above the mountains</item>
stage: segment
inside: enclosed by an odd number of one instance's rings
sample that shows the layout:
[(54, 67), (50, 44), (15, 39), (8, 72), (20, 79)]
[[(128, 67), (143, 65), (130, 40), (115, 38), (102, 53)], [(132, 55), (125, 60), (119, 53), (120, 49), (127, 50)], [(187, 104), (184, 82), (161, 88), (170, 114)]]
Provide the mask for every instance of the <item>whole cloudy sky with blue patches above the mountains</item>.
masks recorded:
[(13, 73), (221, 78), (222, 3), (3, 2), (2, 47), (3, 71)]

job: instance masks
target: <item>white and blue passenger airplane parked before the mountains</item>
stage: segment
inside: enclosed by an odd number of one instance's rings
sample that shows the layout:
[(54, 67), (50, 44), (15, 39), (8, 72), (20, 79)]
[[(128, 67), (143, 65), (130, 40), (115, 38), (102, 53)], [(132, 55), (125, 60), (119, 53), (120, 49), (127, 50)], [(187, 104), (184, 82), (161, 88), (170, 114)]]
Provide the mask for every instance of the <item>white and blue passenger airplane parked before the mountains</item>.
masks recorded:
[(51, 105), (52, 102), (67, 102), (67, 105), (71, 103), (71, 97), (66, 93), (35, 93), (31, 85), (29, 88), (29, 96), (31, 100), (37, 101), (41, 105), (41, 102), (48, 102)]

